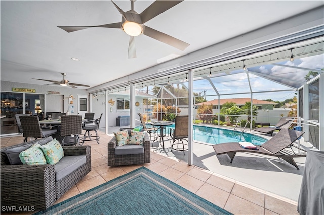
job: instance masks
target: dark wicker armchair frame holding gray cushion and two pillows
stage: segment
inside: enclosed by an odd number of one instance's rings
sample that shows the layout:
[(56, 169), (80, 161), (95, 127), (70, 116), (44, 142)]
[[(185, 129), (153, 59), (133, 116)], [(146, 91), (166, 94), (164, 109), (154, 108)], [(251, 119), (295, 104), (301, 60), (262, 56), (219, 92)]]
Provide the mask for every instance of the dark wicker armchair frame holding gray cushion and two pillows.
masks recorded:
[[(128, 129), (128, 132), (130, 134), (131, 130)], [(145, 134), (144, 137), (144, 153), (142, 154), (115, 155), (116, 146), (117, 140), (114, 137), (108, 143), (108, 166), (144, 164), (151, 162), (151, 142), (147, 134)]]

